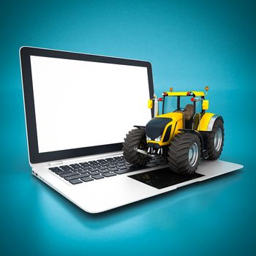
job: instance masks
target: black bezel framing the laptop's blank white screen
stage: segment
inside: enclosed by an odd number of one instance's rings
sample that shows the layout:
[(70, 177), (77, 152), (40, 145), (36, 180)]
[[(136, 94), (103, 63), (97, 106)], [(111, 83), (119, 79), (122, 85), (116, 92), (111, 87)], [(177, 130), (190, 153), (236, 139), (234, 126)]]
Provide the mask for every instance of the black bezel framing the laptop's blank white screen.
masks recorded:
[[(40, 162), (50, 162), (73, 157), (86, 157), (93, 154), (104, 154), (112, 151), (121, 151), (122, 143), (113, 143), (99, 146), (89, 146), (84, 148), (72, 148), (60, 151), (50, 151), (39, 153), (37, 141), (37, 124), (34, 108), (34, 92), (31, 75), (30, 56), (43, 56), (59, 59), (72, 59), (79, 61), (94, 61), (108, 64), (121, 64), (137, 67), (146, 67), (148, 70), (148, 92), (151, 98), (154, 94), (153, 76), (151, 63), (148, 61), (138, 61), (133, 59), (121, 59), (109, 56), (97, 56), (85, 53), (73, 53), (62, 50), (50, 50), (43, 48), (20, 48), (20, 66), (23, 82), (23, 97), (26, 114), (26, 132), (29, 146), (29, 160), (31, 164)], [(146, 106), (145, 106), (146, 108)], [(153, 116), (153, 110), (151, 110)]]

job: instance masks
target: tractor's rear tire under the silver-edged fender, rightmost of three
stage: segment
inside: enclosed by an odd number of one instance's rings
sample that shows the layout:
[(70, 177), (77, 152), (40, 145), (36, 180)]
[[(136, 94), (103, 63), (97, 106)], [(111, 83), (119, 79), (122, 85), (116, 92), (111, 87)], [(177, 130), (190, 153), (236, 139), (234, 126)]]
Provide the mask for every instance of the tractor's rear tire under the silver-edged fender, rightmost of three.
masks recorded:
[[(219, 137), (218, 132), (221, 132), (221, 142), (216, 143), (214, 138)], [(215, 142), (214, 142), (215, 140)], [(220, 118), (214, 122), (214, 127), (212, 132), (206, 133), (206, 148), (208, 151), (208, 159), (209, 160), (216, 160), (222, 154), (222, 148), (224, 145), (224, 126), (223, 121)]]

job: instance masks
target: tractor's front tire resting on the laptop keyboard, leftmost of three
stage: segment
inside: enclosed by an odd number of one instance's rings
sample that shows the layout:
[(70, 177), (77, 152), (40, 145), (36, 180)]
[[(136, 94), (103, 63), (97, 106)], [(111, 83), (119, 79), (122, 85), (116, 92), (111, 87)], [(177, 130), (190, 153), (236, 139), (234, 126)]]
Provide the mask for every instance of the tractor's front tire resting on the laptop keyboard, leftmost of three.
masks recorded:
[(146, 165), (150, 157), (135, 151), (135, 148), (147, 150), (145, 129), (132, 129), (124, 138), (123, 154), (124, 159), (132, 165)]

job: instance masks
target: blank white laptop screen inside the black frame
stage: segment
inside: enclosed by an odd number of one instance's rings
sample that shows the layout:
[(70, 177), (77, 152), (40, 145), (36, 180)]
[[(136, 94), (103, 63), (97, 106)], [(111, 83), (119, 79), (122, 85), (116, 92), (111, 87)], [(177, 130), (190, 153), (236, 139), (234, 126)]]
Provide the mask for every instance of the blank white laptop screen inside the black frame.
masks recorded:
[(151, 118), (146, 67), (31, 56), (39, 153), (120, 143)]

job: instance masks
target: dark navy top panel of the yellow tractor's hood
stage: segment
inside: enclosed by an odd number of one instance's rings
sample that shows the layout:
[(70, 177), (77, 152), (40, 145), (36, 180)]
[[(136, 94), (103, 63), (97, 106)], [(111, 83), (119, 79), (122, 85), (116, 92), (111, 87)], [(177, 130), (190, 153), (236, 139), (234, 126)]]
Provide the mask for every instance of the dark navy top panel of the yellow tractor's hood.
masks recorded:
[(150, 140), (159, 138), (164, 132), (166, 125), (171, 121), (173, 121), (173, 119), (169, 117), (154, 117), (148, 121), (148, 124), (146, 124), (147, 140), (149, 140), (149, 138)]

